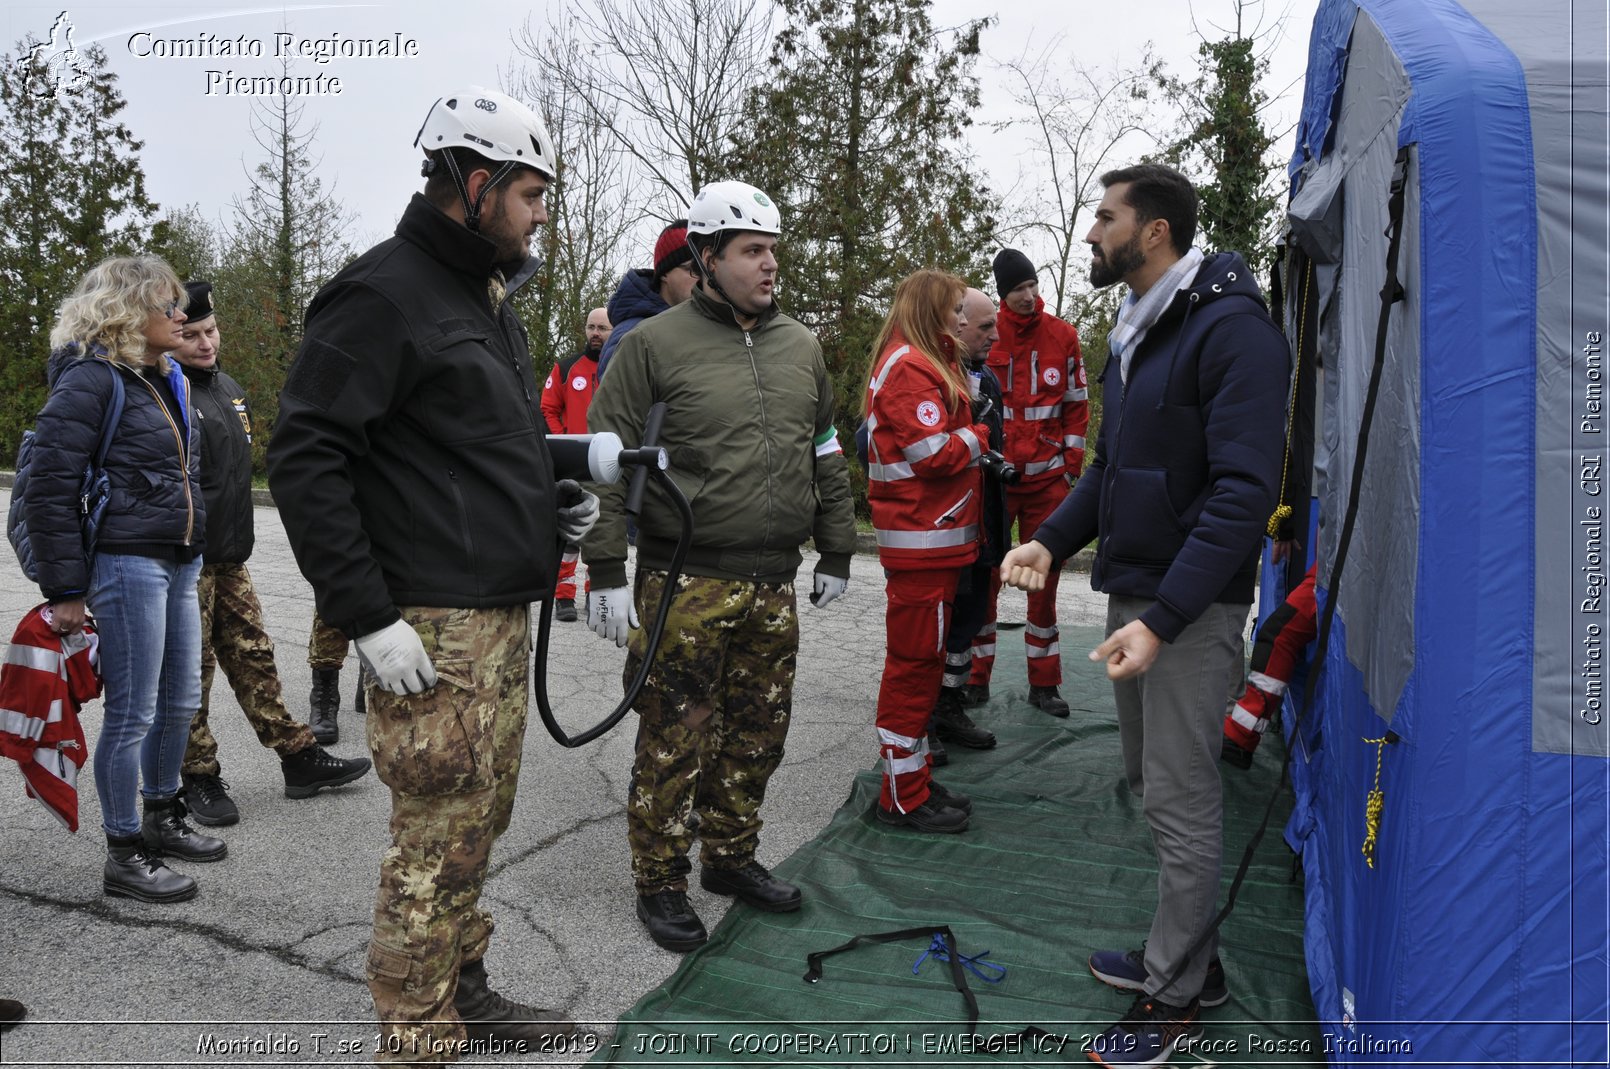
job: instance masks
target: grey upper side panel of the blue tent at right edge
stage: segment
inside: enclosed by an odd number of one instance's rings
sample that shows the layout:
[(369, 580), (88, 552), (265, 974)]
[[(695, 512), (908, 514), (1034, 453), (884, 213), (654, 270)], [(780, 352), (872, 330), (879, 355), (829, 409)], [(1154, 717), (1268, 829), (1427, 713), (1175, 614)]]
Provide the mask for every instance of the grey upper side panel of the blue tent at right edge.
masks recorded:
[[(1610, 755), (1610, 142), (1604, 0), (1468, 0), (1526, 76), (1538, 188), (1531, 744)], [(1560, 40), (1558, 27), (1570, 26)], [(1597, 721), (1597, 723), (1596, 723)]]

